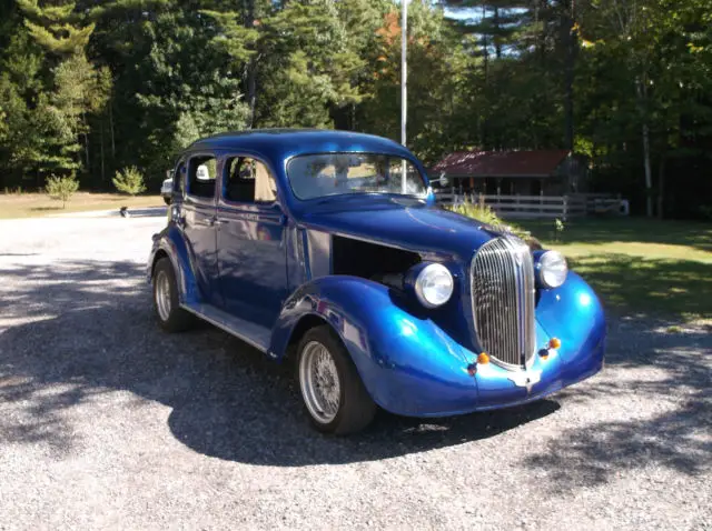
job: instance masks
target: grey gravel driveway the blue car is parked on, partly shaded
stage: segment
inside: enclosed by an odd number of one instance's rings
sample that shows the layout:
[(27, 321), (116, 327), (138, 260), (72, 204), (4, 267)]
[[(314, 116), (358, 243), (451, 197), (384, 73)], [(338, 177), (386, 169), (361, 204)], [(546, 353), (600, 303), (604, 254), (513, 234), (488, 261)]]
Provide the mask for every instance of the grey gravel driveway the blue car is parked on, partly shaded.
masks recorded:
[(611, 318), (527, 407), (314, 432), (291, 369), (159, 331), (162, 212), (0, 221), (0, 529), (712, 529), (712, 333)]

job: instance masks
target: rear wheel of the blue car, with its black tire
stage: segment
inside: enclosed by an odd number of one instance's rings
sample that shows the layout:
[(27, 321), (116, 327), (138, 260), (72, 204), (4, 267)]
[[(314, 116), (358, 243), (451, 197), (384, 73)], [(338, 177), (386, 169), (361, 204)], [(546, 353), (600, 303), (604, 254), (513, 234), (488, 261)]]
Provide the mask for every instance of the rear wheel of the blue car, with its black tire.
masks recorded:
[(167, 332), (184, 332), (192, 327), (195, 318), (180, 308), (178, 283), (170, 259), (164, 257), (154, 268), (154, 312), (160, 328)]

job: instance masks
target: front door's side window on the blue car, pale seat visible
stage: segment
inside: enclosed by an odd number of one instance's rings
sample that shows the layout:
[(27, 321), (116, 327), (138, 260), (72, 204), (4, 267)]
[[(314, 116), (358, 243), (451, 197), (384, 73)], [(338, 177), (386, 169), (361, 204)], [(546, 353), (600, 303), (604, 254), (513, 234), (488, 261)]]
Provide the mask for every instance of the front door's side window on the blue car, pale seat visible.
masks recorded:
[(264, 203), (277, 199), (277, 183), (267, 167), (249, 157), (233, 157), (225, 164), (226, 200), (236, 203)]

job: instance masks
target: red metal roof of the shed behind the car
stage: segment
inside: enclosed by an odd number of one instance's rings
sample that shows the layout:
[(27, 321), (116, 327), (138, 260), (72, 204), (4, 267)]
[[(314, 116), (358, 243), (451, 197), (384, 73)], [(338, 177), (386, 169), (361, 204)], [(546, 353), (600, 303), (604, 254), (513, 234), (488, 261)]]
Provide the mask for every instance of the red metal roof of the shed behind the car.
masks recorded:
[(451, 177), (550, 177), (568, 156), (565, 149), (456, 151), (432, 168)]

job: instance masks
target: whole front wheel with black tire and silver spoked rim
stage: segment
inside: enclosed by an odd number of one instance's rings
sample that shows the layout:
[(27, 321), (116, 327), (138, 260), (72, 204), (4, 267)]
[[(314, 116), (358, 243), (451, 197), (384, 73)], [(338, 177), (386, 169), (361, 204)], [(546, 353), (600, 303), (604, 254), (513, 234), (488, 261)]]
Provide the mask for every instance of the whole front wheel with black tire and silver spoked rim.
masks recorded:
[(297, 352), (301, 399), (314, 427), (342, 435), (366, 428), (376, 404), (338, 335), (328, 325), (313, 328)]

